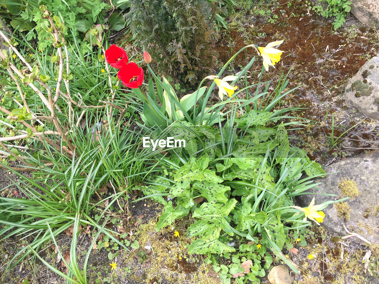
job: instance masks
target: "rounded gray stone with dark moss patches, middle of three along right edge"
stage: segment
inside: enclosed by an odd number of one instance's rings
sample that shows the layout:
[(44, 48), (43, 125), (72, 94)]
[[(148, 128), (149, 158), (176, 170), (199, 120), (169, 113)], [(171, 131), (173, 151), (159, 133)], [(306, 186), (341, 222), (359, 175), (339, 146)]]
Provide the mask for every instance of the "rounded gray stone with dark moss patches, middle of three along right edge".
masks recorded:
[(345, 86), (345, 101), (379, 120), (379, 56), (367, 61)]

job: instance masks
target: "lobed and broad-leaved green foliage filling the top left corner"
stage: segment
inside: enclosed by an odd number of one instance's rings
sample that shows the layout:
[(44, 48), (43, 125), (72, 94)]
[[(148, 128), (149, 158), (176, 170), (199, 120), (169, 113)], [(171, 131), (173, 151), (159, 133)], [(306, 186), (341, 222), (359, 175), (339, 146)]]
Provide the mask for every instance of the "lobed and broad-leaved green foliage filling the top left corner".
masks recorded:
[[(73, 37), (80, 37), (92, 28), (93, 24), (104, 23), (105, 11), (110, 7), (102, 0), (93, 1), (78, 1), (78, 0), (43, 0), (43, 1), (25, 1), (25, 0), (10, 0), (3, 5), (5, 11), (1, 15), (9, 20), (10, 25), (17, 29), (17, 31), (29, 31), (27, 34), (27, 41), (36, 39), (38, 36), (38, 49), (44, 50), (50, 46), (49, 33), (45, 31), (41, 24), (46, 21), (41, 15), (40, 5), (47, 6), (47, 9), (53, 15), (59, 15), (60, 19), (64, 20), (67, 27), (64, 31), (64, 37), (67, 41), (72, 40)], [(117, 30), (123, 26), (123, 17), (112, 16), (110, 18), (111, 29)]]

